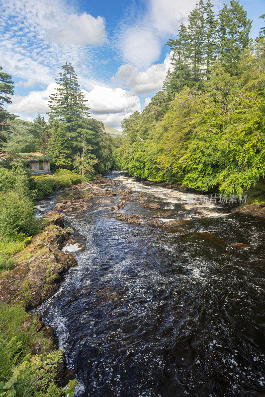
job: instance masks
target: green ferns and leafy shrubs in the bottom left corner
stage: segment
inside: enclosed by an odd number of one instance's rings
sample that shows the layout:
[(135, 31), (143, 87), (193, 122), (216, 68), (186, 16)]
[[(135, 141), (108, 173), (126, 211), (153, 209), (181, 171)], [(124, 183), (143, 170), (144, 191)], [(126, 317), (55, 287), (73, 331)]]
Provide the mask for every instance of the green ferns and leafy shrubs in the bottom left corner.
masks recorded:
[(39, 321), (37, 316), (28, 331), (21, 331), (27, 317), (21, 306), (0, 303), (0, 396), (63, 397), (69, 394), (73, 397), (75, 380), (64, 390), (54, 380), (62, 362), (62, 350), (30, 356), (31, 344), (45, 341), (41, 339), (41, 332), (33, 332)]

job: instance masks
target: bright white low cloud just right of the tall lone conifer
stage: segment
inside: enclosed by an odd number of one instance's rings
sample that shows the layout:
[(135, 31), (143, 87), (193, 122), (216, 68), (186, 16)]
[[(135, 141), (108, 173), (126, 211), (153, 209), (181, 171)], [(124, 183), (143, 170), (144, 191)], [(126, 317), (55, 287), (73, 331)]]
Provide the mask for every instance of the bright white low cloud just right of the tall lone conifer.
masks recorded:
[(91, 117), (119, 128), (122, 120), (135, 111), (141, 110), (140, 99), (122, 88), (95, 86), (91, 91), (84, 91)]

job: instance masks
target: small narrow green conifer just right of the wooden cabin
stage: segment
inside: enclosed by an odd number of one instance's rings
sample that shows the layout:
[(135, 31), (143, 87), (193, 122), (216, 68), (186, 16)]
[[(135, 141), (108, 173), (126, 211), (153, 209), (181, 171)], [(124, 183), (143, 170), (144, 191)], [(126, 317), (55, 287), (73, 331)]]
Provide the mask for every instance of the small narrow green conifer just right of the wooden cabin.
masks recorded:
[(72, 153), (69, 149), (69, 140), (66, 137), (64, 126), (54, 121), (49, 152), (53, 162), (60, 168), (72, 168)]

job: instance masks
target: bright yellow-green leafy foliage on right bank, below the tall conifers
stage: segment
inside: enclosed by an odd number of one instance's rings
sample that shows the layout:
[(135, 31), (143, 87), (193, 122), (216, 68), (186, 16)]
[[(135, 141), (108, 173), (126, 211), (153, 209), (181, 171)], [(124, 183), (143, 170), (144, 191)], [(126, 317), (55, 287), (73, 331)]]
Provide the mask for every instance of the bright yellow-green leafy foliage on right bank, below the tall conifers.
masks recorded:
[[(238, 9), (237, 2), (231, 7)], [(263, 183), (265, 39), (241, 51), (237, 75), (233, 59), (209, 67), (203, 90), (186, 85), (155, 106), (157, 94), (141, 114), (124, 120), (124, 138), (114, 152), (118, 166), (135, 177), (200, 191), (241, 195)]]

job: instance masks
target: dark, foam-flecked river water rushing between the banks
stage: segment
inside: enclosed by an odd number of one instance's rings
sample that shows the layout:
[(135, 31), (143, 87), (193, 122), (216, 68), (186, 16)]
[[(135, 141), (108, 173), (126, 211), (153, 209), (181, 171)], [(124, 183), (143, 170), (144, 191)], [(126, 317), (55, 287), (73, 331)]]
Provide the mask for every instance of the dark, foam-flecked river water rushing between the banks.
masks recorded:
[(67, 218), (87, 249), (39, 312), (76, 372), (75, 396), (261, 396), (264, 223), (123, 173), (109, 178), (191, 222), (153, 229), (156, 211), (133, 201), (121, 210), (145, 216), (133, 226), (97, 199)]

